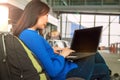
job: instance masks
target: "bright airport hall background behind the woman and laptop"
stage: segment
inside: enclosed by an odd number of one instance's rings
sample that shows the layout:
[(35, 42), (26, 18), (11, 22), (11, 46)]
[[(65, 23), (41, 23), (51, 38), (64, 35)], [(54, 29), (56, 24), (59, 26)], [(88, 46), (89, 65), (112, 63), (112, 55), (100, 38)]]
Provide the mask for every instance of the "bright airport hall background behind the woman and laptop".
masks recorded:
[[(11, 32), (31, 0), (0, 0), (0, 32)], [(120, 74), (120, 0), (41, 0), (48, 4), (44, 37), (70, 45), (76, 29), (103, 26), (99, 51), (112, 75)], [(50, 36), (50, 37), (49, 37)]]

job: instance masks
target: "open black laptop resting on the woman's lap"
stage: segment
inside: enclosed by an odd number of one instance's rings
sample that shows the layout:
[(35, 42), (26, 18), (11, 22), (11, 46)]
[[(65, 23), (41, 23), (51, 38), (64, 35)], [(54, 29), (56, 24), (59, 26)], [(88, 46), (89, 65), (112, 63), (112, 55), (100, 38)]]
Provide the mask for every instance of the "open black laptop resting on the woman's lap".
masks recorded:
[(67, 59), (80, 59), (96, 54), (103, 26), (74, 31), (70, 48), (75, 50)]

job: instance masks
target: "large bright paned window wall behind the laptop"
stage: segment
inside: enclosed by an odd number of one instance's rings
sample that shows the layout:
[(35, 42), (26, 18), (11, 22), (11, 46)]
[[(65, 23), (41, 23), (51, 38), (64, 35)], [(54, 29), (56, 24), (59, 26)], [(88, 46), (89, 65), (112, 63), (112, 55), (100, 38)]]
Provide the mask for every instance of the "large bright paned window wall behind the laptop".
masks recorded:
[[(66, 18), (67, 17), (67, 18)], [(91, 14), (63, 14), (62, 37), (72, 38), (73, 30), (103, 26), (101, 43), (102, 46), (120, 42), (120, 17), (110, 15)]]

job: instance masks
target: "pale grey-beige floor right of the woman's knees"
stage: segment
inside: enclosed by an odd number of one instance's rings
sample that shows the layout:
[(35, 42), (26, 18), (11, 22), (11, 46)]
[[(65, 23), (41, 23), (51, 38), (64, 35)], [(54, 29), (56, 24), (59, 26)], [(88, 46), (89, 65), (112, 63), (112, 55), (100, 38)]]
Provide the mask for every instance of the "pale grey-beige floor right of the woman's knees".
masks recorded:
[(106, 50), (101, 50), (100, 52), (106, 63), (108, 64), (109, 68), (112, 70), (112, 74), (120, 74), (120, 53), (110, 53)]

